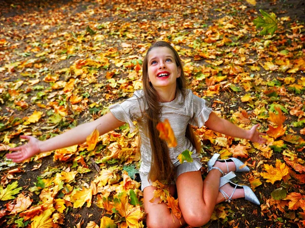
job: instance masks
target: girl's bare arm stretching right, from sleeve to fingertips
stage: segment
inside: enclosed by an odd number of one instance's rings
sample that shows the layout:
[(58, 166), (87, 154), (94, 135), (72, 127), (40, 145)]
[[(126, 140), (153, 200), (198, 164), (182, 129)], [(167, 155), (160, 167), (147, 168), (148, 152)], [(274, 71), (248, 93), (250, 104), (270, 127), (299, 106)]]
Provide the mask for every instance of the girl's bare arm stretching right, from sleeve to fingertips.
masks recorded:
[(237, 127), (225, 119), (219, 118), (214, 112), (210, 113), (209, 118), (204, 125), (213, 131), (217, 131), (235, 138), (245, 138), (251, 140), (252, 142), (259, 143), (266, 143), (267, 141), (265, 138), (261, 137), (261, 135), (265, 134), (256, 130), (259, 124), (254, 125), (250, 130), (245, 130)]

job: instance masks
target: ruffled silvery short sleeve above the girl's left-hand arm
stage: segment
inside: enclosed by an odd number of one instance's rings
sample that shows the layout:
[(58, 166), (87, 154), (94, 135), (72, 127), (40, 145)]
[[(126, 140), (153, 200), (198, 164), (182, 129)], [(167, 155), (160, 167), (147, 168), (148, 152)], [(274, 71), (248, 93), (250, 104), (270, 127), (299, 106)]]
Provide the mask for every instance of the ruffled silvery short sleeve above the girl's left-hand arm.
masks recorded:
[(136, 91), (131, 98), (109, 107), (109, 110), (116, 119), (129, 124), (130, 132), (136, 129), (133, 121), (141, 117), (144, 106), (142, 98), (142, 91)]

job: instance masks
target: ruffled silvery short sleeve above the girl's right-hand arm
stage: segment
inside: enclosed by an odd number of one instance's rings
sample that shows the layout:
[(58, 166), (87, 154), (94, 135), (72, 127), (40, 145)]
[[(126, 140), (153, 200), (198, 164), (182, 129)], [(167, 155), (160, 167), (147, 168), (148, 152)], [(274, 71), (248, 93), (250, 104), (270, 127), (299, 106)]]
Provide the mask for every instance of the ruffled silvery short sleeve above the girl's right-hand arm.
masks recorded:
[(193, 115), (190, 124), (201, 128), (208, 120), (212, 109), (207, 106), (206, 100), (192, 93), (190, 112)]

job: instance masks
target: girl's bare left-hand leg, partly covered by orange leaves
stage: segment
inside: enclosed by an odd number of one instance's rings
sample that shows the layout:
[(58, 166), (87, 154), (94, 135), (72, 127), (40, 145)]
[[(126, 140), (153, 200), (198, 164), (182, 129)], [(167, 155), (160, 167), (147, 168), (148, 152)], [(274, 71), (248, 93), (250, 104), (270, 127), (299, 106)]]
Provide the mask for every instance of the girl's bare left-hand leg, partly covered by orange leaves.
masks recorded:
[[(156, 188), (153, 186), (148, 186), (145, 187), (143, 191), (147, 227), (175, 228), (185, 225), (185, 220), (181, 217), (179, 221), (177, 217), (171, 214), (169, 208), (167, 208), (167, 205), (165, 203), (162, 202), (158, 204), (160, 198), (157, 198), (153, 203), (149, 202), (149, 200), (153, 199), (154, 197), (155, 189)], [(175, 185), (170, 185), (170, 193), (172, 196), (174, 195), (175, 191)]]

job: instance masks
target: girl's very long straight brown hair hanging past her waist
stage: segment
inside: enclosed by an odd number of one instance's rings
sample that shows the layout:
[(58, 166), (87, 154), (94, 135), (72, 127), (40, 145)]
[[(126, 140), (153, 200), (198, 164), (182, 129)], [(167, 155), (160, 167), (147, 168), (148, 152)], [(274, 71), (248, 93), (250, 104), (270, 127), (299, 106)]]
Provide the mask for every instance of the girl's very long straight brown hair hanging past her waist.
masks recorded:
[[(158, 102), (160, 101), (159, 95), (153, 85), (149, 82), (148, 78), (148, 54), (153, 48), (158, 47), (166, 47), (172, 50), (176, 65), (177, 67), (180, 67), (180, 77), (176, 79), (176, 95), (179, 92), (185, 98), (187, 82), (179, 55), (170, 44), (164, 41), (158, 41), (150, 46), (142, 66), (143, 92), (148, 106), (146, 113), (147, 129), (149, 132), (150, 147), (152, 152), (151, 167), (148, 174), (148, 179), (150, 181), (155, 181), (157, 179), (167, 180), (170, 183), (175, 177), (175, 168), (169, 156), (168, 146), (164, 140), (159, 138), (159, 132), (156, 128), (157, 124), (160, 122), (162, 106)], [(190, 125), (187, 127), (186, 137), (192, 142), (197, 153), (199, 153), (200, 144), (197, 141), (194, 131)]]

